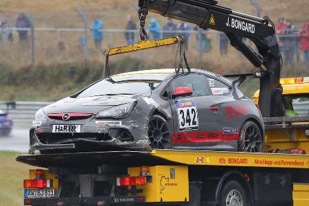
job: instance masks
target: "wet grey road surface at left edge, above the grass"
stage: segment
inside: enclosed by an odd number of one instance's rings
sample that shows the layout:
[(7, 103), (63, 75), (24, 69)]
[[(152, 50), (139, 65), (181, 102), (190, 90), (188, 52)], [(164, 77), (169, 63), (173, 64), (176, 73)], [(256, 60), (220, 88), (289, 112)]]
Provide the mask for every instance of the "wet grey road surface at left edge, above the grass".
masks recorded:
[(8, 137), (0, 136), (0, 150), (28, 152), (29, 128), (13, 128)]

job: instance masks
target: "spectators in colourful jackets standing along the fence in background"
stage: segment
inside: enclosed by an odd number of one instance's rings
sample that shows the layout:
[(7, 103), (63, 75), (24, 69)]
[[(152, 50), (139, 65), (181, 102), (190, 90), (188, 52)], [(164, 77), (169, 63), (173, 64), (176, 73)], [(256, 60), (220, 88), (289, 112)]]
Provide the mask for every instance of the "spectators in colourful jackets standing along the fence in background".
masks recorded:
[[(16, 32), (19, 35), (19, 41), (25, 42), (28, 39), (29, 28), (32, 27), (32, 21), (23, 12), (19, 12), (15, 25), (12, 25), (6, 16), (0, 21), (0, 40), (4, 42), (13, 41), (12, 30), (8, 30), (10, 27), (16, 27)], [(133, 21), (133, 16), (127, 16), (126, 32), (124, 37), (128, 45), (132, 45), (137, 42), (135, 38), (137, 24)], [(102, 20), (97, 17), (93, 21), (89, 30), (92, 32), (93, 43), (96, 49), (101, 49), (102, 40), (104, 38), (104, 25)], [(209, 52), (211, 50), (211, 38), (207, 37), (206, 30), (199, 27), (192, 28), (189, 23), (180, 22), (174, 23), (172, 19), (168, 19), (167, 22), (161, 27), (157, 19), (150, 19), (147, 30), (150, 34), (150, 39), (157, 40), (160, 38), (168, 38), (171, 36), (183, 36), (185, 38), (185, 49), (187, 49), (187, 43), (190, 42), (192, 33), (196, 36), (196, 49), (200, 53)], [(195, 31), (195, 32), (192, 32)], [(303, 56), (304, 64), (309, 67), (309, 22), (305, 22), (304, 25), (296, 27), (295, 24), (284, 18), (279, 18), (278, 25), (275, 30), (279, 36), (279, 47), (284, 58), (286, 65), (295, 65), (295, 62), (301, 60), (301, 53)], [(82, 39), (80, 40), (82, 43)], [(229, 39), (223, 33), (218, 34), (218, 48), (220, 55), (226, 55), (228, 52)]]

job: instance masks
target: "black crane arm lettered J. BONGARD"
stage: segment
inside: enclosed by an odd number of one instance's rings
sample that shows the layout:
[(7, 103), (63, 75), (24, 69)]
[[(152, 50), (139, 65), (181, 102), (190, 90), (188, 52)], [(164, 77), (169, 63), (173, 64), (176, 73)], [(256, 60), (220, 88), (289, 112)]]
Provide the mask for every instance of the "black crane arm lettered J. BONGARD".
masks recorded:
[[(264, 117), (284, 116), (282, 87), (279, 83), (282, 58), (275, 36), (275, 25), (268, 18), (259, 18), (234, 12), (217, 5), (215, 0), (139, 0), (139, 8), (194, 23), (203, 29), (227, 34), (233, 47), (238, 49), (260, 71), (259, 106)], [(258, 49), (243, 43), (249, 38)]]

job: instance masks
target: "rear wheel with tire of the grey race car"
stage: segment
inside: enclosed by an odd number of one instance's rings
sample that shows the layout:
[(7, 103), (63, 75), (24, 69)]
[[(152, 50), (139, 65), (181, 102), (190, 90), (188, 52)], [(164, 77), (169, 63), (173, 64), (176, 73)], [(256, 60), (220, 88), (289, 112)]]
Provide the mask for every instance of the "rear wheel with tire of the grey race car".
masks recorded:
[(240, 130), (238, 140), (238, 151), (240, 152), (262, 152), (263, 136), (258, 126), (253, 121), (244, 122)]

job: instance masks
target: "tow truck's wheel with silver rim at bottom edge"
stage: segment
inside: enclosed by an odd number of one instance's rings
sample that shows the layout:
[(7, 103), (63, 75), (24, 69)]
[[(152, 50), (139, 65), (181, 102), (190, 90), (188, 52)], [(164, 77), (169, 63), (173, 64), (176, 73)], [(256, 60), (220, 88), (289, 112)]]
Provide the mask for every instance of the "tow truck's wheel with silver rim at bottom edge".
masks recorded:
[(249, 197), (237, 181), (228, 181), (220, 192), (220, 206), (249, 206)]

